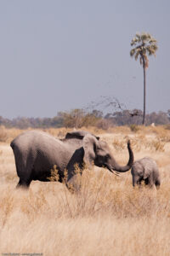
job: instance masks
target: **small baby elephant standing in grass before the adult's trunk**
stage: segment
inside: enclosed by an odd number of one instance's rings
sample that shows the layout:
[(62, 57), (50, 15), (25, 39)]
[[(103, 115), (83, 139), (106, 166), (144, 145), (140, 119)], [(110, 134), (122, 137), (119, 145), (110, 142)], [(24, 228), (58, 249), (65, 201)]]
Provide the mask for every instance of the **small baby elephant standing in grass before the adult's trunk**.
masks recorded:
[(150, 188), (155, 184), (156, 189), (159, 189), (159, 186), (161, 185), (156, 161), (150, 157), (144, 157), (140, 160), (136, 160), (133, 163), (131, 174), (133, 176), (133, 186), (140, 184), (143, 180), (145, 185), (149, 185)]

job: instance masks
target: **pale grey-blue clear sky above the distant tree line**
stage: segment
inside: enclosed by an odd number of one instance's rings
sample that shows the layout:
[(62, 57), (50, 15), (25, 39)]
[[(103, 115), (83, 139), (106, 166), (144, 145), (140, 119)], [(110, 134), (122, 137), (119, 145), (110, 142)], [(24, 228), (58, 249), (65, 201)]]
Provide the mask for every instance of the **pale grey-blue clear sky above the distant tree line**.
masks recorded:
[[(114, 96), (143, 108), (136, 32), (157, 39), (146, 112), (170, 108), (169, 0), (0, 0), (0, 115), (53, 117)], [(102, 109), (101, 109), (102, 110)]]

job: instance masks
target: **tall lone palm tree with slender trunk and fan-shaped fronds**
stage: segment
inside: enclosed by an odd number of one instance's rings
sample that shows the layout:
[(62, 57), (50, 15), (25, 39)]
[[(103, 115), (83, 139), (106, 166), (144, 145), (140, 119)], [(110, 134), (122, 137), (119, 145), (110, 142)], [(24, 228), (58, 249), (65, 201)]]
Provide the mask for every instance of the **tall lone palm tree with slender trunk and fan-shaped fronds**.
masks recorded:
[(136, 33), (135, 37), (132, 39), (131, 46), (134, 46), (130, 51), (130, 55), (135, 61), (138, 60), (144, 69), (144, 113), (143, 113), (143, 125), (145, 122), (145, 98), (146, 98), (146, 68), (149, 67), (149, 60), (147, 55), (156, 56), (156, 45), (157, 41), (152, 38), (149, 33), (142, 32), (141, 34)]

